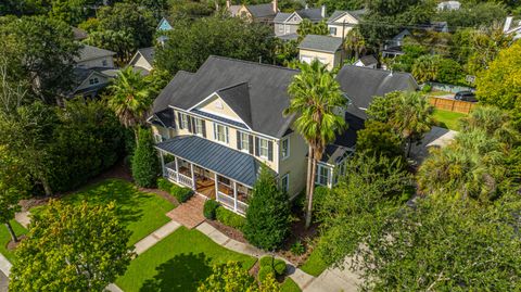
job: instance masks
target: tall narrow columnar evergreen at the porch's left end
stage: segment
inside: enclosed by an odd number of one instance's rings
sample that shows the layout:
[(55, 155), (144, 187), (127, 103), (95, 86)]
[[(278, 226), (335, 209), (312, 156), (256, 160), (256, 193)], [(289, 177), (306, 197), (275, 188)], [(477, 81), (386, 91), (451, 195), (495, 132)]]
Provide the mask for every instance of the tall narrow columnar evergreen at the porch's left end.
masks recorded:
[(144, 128), (138, 130), (138, 145), (132, 156), (132, 177), (139, 187), (155, 187), (160, 163), (154, 149), (152, 131)]

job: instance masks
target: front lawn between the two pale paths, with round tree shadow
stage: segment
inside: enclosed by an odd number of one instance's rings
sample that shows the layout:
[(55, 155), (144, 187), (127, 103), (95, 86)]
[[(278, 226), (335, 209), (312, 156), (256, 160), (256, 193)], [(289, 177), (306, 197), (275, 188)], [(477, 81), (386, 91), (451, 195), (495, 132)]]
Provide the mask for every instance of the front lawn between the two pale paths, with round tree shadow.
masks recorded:
[(198, 230), (180, 227), (135, 258), (127, 272), (116, 280), (125, 292), (196, 291), (212, 274), (212, 266), (242, 262), (250, 269), (256, 258), (229, 251)]

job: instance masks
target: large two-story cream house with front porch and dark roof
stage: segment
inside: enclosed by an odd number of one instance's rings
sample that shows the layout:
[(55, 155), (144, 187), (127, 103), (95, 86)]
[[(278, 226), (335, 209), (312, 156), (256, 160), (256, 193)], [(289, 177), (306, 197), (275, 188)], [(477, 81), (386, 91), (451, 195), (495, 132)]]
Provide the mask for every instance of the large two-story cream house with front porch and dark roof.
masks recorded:
[(178, 72), (153, 105), (163, 175), (244, 214), (264, 164), (291, 198), (305, 188), (307, 144), (292, 128), (298, 71), (209, 56)]

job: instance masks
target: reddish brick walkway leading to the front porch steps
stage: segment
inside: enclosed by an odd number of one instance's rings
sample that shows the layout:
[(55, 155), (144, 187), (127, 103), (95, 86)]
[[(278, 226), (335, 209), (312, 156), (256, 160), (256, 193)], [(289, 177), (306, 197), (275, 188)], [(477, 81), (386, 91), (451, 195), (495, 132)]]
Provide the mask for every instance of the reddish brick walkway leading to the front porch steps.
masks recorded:
[(188, 229), (192, 229), (204, 221), (203, 206), (205, 201), (201, 195), (194, 194), (190, 200), (168, 212), (166, 216)]

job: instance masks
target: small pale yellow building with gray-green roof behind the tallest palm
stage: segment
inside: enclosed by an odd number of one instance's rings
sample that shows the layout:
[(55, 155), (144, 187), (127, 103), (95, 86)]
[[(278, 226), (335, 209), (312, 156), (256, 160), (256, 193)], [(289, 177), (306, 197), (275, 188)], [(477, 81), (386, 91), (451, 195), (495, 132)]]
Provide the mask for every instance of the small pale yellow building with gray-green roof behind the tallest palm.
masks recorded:
[(344, 58), (342, 38), (307, 35), (298, 45), (298, 60), (312, 63), (318, 60), (328, 65), (328, 69), (342, 64)]

